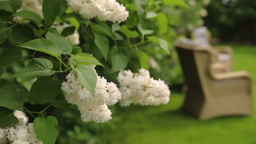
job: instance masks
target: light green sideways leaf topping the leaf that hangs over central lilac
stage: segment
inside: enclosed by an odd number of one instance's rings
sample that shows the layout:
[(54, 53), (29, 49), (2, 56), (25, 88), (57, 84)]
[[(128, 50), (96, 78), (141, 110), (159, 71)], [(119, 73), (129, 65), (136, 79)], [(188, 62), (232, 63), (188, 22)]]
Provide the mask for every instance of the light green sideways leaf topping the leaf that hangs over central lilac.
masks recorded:
[(91, 56), (88, 53), (78, 53), (77, 55), (70, 57), (69, 61), (74, 62), (75, 65), (78, 65), (78, 64), (102, 65), (100, 62), (98, 62), (98, 60), (95, 57)]

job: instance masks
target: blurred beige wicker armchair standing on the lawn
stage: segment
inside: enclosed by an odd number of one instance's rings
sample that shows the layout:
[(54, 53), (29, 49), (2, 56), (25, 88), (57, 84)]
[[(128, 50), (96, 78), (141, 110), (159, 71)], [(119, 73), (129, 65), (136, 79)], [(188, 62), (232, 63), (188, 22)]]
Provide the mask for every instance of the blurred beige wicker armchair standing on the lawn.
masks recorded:
[(199, 119), (252, 114), (253, 85), (246, 71), (232, 72), (230, 63), (216, 60), (216, 50), (209, 45), (176, 43), (176, 49), (188, 87), (186, 110)]

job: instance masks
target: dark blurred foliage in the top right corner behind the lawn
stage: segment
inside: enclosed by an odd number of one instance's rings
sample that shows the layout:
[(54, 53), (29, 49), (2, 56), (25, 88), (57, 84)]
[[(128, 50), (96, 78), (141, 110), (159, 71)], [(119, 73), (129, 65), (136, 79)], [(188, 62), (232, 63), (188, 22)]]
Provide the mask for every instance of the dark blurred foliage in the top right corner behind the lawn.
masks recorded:
[(255, 44), (255, 8), (256, 1), (250, 0), (211, 1), (204, 20), (215, 43)]

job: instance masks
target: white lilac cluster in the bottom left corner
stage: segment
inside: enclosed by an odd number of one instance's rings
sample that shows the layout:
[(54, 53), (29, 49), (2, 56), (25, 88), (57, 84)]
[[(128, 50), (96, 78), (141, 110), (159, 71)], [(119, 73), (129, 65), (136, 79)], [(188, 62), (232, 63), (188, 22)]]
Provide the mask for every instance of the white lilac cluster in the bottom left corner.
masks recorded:
[(34, 133), (33, 123), (26, 125), (22, 118), (19, 120), (19, 124), (14, 127), (0, 128), (0, 144), (43, 144)]

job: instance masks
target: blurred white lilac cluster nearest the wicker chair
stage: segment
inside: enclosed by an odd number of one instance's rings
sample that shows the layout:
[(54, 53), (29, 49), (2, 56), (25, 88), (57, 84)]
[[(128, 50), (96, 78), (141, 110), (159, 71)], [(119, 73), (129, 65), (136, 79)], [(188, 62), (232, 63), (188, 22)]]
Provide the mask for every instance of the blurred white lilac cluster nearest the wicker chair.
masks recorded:
[(139, 73), (132, 73), (131, 70), (120, 71), (118, 81), (122, 94), (121, 106), (161, 105), (169, 101), (171, 92), (168, 86), (164, 81), (150, 77), (148, 70), (140, 69)]

